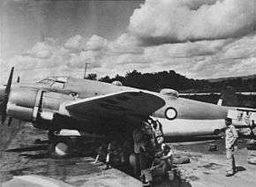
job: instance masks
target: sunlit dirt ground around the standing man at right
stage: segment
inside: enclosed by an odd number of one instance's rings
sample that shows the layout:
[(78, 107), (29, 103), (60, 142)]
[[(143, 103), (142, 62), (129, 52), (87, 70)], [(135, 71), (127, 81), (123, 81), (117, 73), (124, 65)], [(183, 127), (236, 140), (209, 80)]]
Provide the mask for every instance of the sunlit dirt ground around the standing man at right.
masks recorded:
[[(248, 151), (245, 140), (238, 141), (235, 155), (237, 173), (226, 177), (226, 156), (224, 140), (215, 140), (196, 145), (176, 145), (176, 149), (191, 158), (191, 163), (180, 165), (180, 175), (192, 186), (256, 186), (256, 165), (247, 163), (247, 157), (256, 151)], [(208, 151), (209, 144), (215, 144), (217, 151)]]

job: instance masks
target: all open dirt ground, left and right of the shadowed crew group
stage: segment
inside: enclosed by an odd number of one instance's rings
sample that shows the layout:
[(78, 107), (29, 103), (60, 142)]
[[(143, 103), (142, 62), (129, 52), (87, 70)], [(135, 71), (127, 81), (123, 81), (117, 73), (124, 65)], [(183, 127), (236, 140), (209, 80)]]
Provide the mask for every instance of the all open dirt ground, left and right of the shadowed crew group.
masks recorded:
[[(92, 164), (92, 157), (63, 160), (49, 158), (47, 131), (32, 127), (29, 123), (13, 121), (11, 127), (0, 126), (0, 183), (13, 176), (38, 175), (61, 180), (73, 186), (141, 186), (139, 180), (118, 169), (103, 170), (104, 164)], [(35, 139), (41, 139), (35, 144)], [(209, 152), (209, 144), (215, 143), (216, 152)], [(174, 144), (176, 153), (188, 155), (191, 163), (177, 165), (183, 180), (172, 186), (256, 186), (256, 165), (248, 164), (245, 141), (239, 141), (236, 155), (237, 173), (225, 176), (224, 141), (214, 140), (199, 144)], [(170, 186), (159, 183), (155, 186)]]

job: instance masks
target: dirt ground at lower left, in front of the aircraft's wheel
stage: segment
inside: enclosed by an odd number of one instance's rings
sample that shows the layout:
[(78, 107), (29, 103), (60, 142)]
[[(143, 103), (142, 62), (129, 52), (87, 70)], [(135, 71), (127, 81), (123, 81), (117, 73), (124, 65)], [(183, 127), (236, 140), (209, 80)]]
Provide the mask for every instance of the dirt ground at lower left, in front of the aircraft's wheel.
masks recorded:
[[(35, 129), (29, 123), (13, 123), (0, 127), (0, 183), (13, 176), (48, 176), (73, 186), (141, 186), (139, 180), (111, 168), (103, 170), (104, 164), (93, 164), (91, 157), (70, 159), (49, 158), (47, 131)], [(41, 139), (37, 144), (35, 139)]]

